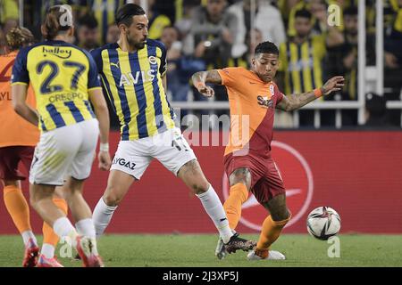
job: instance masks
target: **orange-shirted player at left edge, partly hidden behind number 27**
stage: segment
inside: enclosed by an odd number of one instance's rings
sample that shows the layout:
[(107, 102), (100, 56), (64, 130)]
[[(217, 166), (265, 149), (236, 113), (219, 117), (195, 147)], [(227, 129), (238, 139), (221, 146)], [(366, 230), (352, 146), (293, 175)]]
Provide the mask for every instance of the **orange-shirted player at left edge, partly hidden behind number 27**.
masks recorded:
[[(38, 258), (38, 242), (30, 226), (29, 206), (21, 192), (21, 180), (25, 176), (18, 170), (20, 161), (29, 170), (35, 145), (39, 141), (39, 130), (38, 126), (32, 126), (13, 110), (10, 77), (18, 50), (33, 43), (34, 37), (27, 28), (13, 28), (7, 33), (6, 39), (11, 53), (0, 56), (0, 180), (4, 186), (4, 204), (25, 244), (22, 266), (61, 267), (54, 258), (54, 248), (59, 238), (46, 223), (43, 224), (43, 247)], [(29, 88), (27, 102), (31, 106), (36, 105), (32, 88)], [(67, 202), (61, 198), (63, 193), (57, 193), (54, 195), (54, 204), (67, 213)]]

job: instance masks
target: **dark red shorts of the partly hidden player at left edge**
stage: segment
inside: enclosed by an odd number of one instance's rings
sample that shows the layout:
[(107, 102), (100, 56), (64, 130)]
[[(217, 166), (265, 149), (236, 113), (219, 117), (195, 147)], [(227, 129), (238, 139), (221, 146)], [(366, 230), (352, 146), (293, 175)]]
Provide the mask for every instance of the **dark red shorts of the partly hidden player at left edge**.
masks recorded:
[(0, 148), (0, 179), (24, 180), (18, 170), (20, 161), (29, 170), (35, 147), (33, 146), (6, 146)]

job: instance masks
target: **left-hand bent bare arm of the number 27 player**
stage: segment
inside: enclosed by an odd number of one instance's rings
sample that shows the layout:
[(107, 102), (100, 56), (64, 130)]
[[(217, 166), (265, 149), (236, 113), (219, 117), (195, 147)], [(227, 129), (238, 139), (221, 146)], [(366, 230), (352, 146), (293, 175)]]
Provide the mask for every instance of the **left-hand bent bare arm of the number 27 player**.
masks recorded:
[(27, 104), (27, 89), (28, 85), (15, 84), (12, 85), (13, 109), (22, 118), (25, 118), (29, 123), (38, 126), (39, 116), (36, 110), (33, 110)]

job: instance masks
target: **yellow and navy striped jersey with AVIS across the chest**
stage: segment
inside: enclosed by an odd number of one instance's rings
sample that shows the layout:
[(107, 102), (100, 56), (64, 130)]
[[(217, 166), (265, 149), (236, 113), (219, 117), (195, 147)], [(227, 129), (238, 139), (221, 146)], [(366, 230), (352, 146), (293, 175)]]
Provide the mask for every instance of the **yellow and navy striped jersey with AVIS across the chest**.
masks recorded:
[(137, 140), (174, 127), (175, 115), (163, 89), (166, 48), (161, 42), (147, 39), (147, 45), (134, 53), (109, 44), (91, 54), (120, 120), (121, 140)]

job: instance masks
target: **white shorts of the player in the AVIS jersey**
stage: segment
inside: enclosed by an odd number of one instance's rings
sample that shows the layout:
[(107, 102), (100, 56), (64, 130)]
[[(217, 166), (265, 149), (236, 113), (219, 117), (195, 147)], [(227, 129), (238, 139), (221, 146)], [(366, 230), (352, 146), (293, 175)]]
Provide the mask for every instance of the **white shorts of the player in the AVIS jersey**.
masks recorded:
[(111, 170), (121, 170), (139, 180), (152, 159), (177, 175), (184, 164), (197, 158), (180, 128), (175, 127), (151, 137), (119, 142)]

